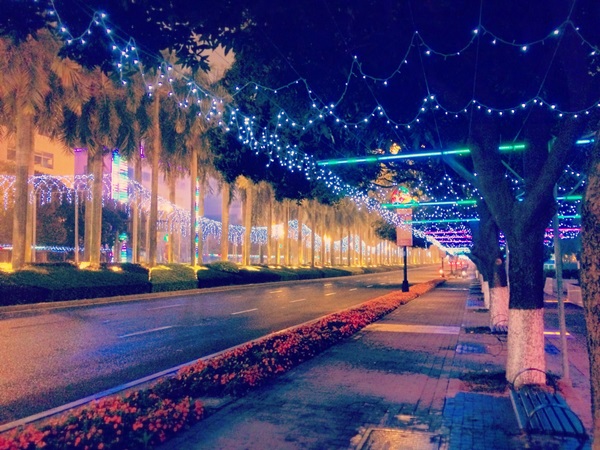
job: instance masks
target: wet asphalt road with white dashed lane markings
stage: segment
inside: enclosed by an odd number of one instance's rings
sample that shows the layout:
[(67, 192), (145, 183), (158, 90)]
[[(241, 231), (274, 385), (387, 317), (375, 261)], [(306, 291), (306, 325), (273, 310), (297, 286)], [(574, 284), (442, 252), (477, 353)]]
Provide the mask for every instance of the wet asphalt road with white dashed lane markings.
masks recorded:
[[(411, 284), (438, 267), (409, 270)], [(128, 302), (0, 308), (0, 424), (401, 289), (402, 271)]]

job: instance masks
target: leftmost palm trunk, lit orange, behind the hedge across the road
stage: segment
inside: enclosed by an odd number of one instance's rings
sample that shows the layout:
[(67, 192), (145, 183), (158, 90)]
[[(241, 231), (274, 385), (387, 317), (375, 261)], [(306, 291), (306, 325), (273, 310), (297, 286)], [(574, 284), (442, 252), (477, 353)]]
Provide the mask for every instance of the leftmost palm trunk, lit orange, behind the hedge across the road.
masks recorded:
[(15, 206), (13, 213), (12, 267), (19, 270), (25, 265), (27, 235), (29, 159), (33, 156), (32, 128), (33, 116), (17, 108), (16, 122), (16, 176)]

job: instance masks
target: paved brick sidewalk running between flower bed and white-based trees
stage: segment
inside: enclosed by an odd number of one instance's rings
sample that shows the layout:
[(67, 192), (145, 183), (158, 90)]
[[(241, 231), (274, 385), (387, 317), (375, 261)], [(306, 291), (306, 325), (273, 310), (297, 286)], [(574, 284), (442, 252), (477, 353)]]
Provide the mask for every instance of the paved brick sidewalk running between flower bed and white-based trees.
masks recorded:
[[(577, 448), (575, 440), (520, 432), (501, 375), (506, 344), (482, 333), (482, 304), (472, 280), (449, 280), (272, 383), (221, 401), (163, 448)], [(554, 373), (559, 347), (558, 338), (547, 340)], [(573, 388), (564, 396), (589, 428), (580, 347), (570, 339)]]

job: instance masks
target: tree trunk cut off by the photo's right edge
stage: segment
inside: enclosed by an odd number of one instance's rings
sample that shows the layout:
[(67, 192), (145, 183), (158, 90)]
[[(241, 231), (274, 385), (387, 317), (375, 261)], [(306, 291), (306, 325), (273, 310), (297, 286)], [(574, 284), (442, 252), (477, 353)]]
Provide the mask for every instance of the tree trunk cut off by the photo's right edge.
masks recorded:
[[(596, 140), (598, 141), (598, 135)], [(590, 359), (594, 448), (600, 441), (600, 145), (596, 144), (587, 171), (581, 208), (581, 292)]]

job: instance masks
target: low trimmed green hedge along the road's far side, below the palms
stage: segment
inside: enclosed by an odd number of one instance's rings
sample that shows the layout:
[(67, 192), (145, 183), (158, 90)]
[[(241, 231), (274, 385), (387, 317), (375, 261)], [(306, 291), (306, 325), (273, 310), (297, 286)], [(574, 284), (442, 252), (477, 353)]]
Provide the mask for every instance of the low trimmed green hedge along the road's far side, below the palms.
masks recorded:
[(219, 261), (195, 272), (185, 264), (160, 265), (149, 271), (131, 263), (103, 264), (100, 270), (79, 269), (70, 263), (43, 263), (14, 273), (0, 271), (0, 306), (330, 278), (394, 269), (397, 268), (254, 266), (246, 269)]

